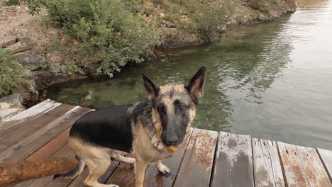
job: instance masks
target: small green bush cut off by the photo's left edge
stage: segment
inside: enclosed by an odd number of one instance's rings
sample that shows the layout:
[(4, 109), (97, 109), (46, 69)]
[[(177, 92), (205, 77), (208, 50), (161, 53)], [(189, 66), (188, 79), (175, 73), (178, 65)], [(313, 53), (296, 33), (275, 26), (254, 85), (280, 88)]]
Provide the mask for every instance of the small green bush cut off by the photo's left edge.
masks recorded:
[(11, 51), (0, 49), (0, 94), (7, 95), (17, 91), (25, 83), (23, 67), (11, 58)]

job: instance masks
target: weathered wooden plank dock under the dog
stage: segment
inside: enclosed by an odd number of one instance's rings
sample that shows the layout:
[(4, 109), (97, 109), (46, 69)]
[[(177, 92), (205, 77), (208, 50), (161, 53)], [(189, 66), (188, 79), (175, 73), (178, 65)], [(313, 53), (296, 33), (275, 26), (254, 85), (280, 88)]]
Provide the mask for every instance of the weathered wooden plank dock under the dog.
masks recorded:
[[(1, 120), (0, 162), (74, 157), (67, 145), (70, 127), (88, 111), (92, 110), (47, 100)], [(144, 186), (332, 186), (331, 151), (197, 128), (164, 164), (172, 175), (161, 176), (150, 165)], [(84, 186), (88, 172), (86, 167), (73, 180), (47, 176), (7, 186)], [(114, 161), (99, 181), (134, 186), (133, 166)]]

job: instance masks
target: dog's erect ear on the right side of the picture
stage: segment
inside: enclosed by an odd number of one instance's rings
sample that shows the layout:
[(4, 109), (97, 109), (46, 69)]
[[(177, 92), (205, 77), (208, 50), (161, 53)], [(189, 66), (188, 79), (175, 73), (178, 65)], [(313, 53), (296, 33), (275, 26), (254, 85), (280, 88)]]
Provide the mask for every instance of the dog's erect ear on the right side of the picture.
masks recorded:
[(205, 67), (201, 67), (185, 87), (189, 91), (189, 94), (197, 99), (204, 95), (204, 84)]

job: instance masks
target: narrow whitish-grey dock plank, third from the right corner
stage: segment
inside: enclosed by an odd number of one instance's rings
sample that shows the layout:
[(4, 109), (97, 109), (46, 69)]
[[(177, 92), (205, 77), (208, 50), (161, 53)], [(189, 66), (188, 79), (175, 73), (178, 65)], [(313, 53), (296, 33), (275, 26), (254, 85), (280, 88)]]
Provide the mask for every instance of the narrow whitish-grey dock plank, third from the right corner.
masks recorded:
[(280, 165), (277, 143), (252, 139), (253, 166), (256, 187), (283, 187), (284, 176)]

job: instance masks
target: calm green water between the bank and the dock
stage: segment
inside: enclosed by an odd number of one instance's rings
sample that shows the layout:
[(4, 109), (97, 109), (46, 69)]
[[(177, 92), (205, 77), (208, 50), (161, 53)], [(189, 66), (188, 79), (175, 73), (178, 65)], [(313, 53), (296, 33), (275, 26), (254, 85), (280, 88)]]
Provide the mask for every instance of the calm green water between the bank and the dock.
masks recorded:
[(332, 1), (306, 4), (278, 23), (228, 31), (113, 79), (59, 86), (50, 98), (89, 108), (145, 101), (141, 73), (157, 84), (207, 68), (194, 126), (332, 149)]

